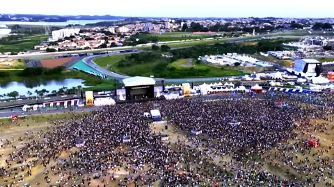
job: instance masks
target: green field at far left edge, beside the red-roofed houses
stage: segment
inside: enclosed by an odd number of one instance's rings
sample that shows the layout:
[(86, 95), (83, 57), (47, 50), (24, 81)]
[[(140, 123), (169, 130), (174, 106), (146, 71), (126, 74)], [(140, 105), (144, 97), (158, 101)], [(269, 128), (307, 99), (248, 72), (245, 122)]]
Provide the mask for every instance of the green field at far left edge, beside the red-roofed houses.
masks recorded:
[(45, 35), (26, 35), (21, 38), (4, 37), (0, 41), (0, 52), (20, 52), (33, 49), (33, 46), (45, 41)]

